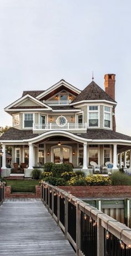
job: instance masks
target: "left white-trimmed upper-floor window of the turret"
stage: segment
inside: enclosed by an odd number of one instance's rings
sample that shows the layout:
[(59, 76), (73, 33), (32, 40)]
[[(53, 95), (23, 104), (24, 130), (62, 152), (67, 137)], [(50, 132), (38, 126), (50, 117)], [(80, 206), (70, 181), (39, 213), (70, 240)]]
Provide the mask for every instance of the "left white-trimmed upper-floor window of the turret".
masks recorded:
[(89, 106), (89, 127), (98, 127), (98, 106)]

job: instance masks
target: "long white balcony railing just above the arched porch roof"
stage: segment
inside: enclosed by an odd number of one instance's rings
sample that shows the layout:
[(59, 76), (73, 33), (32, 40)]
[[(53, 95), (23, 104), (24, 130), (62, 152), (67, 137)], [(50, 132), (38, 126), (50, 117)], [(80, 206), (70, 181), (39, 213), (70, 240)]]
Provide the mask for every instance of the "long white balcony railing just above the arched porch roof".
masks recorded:
[(49, 124), (34, 124), (33, 130), (79, 130), (87, 129), (87, 123), (66, 123), (64, 125), (59, 125), (56, 123)]

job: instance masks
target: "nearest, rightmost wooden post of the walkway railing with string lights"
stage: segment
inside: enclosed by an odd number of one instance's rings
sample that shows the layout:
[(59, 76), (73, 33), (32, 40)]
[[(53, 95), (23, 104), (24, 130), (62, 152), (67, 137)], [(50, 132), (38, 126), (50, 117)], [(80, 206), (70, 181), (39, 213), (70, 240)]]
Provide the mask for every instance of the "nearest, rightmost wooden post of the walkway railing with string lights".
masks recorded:
[(104, 228), (97, 216), (97, 256), (104, 256)]

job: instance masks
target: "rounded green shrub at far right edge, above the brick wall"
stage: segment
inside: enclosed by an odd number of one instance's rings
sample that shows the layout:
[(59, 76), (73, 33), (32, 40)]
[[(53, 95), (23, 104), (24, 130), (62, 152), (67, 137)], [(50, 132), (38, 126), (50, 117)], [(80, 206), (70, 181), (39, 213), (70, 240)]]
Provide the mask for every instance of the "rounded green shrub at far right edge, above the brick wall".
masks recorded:
[(131, 177), (125, 173), (112, 172), (110, 175), (112, 185), (131, 185)]

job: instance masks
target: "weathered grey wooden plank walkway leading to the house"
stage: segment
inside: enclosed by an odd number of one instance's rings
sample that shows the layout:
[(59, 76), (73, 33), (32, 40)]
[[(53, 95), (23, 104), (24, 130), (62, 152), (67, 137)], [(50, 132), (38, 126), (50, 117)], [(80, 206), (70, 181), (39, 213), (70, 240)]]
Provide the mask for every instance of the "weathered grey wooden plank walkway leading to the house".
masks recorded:
[(76, 254), (41, 200), (12, 198), (0, 207), (0, 255)]

